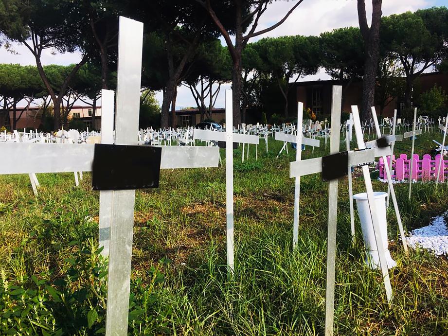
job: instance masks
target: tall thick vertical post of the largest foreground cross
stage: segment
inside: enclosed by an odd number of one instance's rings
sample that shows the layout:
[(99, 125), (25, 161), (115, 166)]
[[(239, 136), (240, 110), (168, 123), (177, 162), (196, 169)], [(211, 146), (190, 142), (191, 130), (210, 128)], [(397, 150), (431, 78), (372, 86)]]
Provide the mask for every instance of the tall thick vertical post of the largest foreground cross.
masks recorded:
[[(115, 144), (137, 145), (143, 23), (120, 17)], [(106, 335), (127, 335), (135, 190), (112, 192)]]

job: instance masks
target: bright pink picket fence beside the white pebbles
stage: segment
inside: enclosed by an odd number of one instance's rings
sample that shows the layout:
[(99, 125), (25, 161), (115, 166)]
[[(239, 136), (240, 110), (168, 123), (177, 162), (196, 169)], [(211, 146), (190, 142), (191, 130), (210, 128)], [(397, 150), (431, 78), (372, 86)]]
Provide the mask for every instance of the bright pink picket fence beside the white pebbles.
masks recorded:
[[(416, 180), (435, 180), (437, 169), (439, 168), (441, 156), (440, 154), (435, 156), (435, 160), (431, 159), (429, 154), (425, 154), (423, 159), (420, 159), (417, 154), (413, 156), (412, 163), (412, 179)], [(387, 157), (389, 165), (391, 163), (391, 157)], [(401, 154), (398, 159), (392, 156), (392, 178), (401, 181), (403, 179), (409, 179), (409, 166), (411, 159), (408, 159), (406, 154)], [(384, 172), (383, 158), (379, 158), (377, 168), (379, 169), (379, 177), (386, 178)], [(448, 178), (448, 160), (442, 159), (442, 165), (440, 167), (439, 181), (444, 181)]]

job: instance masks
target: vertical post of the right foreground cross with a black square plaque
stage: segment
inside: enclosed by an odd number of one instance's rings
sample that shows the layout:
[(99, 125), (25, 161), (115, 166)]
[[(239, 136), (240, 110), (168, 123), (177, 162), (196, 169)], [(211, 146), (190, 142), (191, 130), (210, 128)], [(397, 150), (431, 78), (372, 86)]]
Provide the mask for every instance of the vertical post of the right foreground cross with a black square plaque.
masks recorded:
[[(330, 155), (339, 152), (341, 102), (342, 87), (333, 86), (333, 94), (331, 98)], [(338, 182), (338, 179), (331, 180), (328, 186), (327, 277), (325, 293), (325, 335), (327, 336), (333, 335), (334, 328)]]

